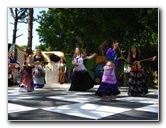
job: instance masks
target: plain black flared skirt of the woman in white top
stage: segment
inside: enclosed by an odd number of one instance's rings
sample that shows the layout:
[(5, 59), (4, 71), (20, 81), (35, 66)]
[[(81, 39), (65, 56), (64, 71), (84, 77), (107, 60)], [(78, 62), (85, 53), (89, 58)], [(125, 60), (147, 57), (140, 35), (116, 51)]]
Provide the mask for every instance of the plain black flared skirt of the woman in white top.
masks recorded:
[(74, 71), (69, 91), (86, 91), (94, 87), (94, 81), (88, 71)]

